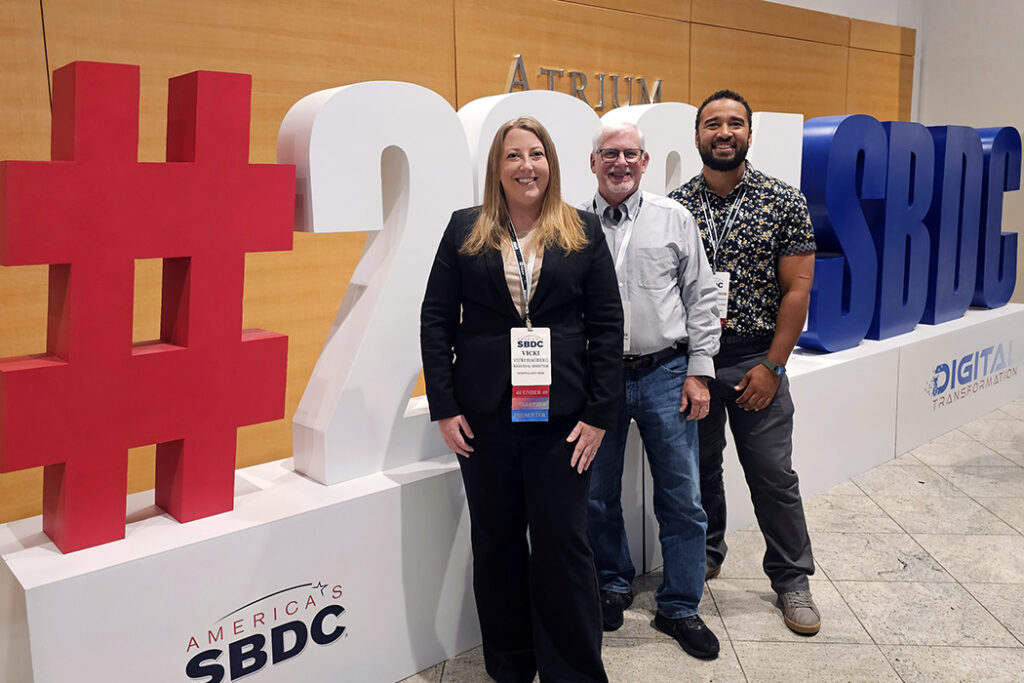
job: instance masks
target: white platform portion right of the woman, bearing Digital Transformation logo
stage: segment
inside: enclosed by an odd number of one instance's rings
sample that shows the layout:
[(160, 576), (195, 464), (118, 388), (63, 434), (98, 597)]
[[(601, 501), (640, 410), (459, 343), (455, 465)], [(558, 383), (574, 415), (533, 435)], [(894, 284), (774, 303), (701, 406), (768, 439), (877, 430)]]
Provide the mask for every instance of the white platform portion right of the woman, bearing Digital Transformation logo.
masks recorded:
[[(996, 344), (1002, 344), (1007, 370), (1013, 370), (997, 383), (974, 391), (969, 386), (966, 397), (937, 405), (937, 396), (932, 395), (936, 367), (968, 353), (973, 357), (976, 351)], [(993, 349), (990, 359), (994, 353)], [(1024, 378), (1016, 370), (1021, 358), (1021, 304), (970, 309), (956, 321), (919, 325), (912, 332), (883, 341), (865, 339), (836, 353), (798, 348), (787, 365), (787, 375), (796, 404), (793, 467), (800, 475), (801, 495), (806, 499), (830, 488), (1024, 396)], [(727, 434), (727, 438), (726, 528), (731, 531), (756, 520), (742, 468), (731, 436)], [(634, 540), (631, 536), (630, 541), (632, 554), (636, 557), (641, 553), (644, 570), (649, 571), (663, 561), (652, 508), (653, 483), (645, 461), (641, 461), (645, 538)], [(638, 569), (640, 566), (637, 564)]]

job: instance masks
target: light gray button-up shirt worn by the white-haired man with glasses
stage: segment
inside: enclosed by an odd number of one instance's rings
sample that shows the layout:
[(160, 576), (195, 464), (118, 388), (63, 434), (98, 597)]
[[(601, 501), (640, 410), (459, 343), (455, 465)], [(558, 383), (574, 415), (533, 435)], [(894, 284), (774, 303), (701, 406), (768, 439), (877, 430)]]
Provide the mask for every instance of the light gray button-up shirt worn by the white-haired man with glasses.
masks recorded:
[[(641, 201), (642, 199), (642, 201)], [(631, 222), (633, 231), (616, 269), (618, 293), (630, 302), (630, 355), (688, 345), (688, 374), (715, 376), (721, 321), (718, 288), (708, 265), (696, 221), (666, 197), (635, 191), (618, 205), (622, 219), (605, 215), (600, 193), (581, 207), (601, 218), (612, 260)]]

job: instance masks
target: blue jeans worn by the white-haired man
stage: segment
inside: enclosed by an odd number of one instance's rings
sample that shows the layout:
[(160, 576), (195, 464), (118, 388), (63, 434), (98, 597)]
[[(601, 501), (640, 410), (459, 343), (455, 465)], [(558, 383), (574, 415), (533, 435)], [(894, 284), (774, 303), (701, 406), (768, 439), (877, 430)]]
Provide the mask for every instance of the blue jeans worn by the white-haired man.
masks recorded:
[(654, 515), (665, 580), (654, 593), (669, 618), (697, 613), (703, 593), (708, 517), (700, 506), (697, 423), (679, 412), (685, 353), (651, 368), (624, 371), (618, 417), (591, 465), (588, 535), (602, 590), (627, 593), (636, 577), (623, 521), (623, 460), (636, 420), (654, 480)]

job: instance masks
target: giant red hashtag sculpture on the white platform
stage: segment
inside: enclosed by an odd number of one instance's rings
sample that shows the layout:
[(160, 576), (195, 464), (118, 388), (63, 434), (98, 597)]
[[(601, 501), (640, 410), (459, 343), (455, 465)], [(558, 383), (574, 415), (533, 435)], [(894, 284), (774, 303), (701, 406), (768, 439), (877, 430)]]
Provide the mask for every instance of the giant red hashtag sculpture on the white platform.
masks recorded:
[[(242, 330), (245, 254), (292, 248), (295, 169), (249, 164), (251, 77), (170, 80), (167, 163), (138, 162), (138, 67), (53, 73), (50, 162), (0, 163), (0, 263), (50, 264), (46, 353), (0, 360), (0, 471), (44, 467), (62, 552), (123, 539), (128, 449), (157, 505), (230, 510), (238, 427), (284, 416), (288, 338)], [(163, 258), (132, 343), (135, 259)]]

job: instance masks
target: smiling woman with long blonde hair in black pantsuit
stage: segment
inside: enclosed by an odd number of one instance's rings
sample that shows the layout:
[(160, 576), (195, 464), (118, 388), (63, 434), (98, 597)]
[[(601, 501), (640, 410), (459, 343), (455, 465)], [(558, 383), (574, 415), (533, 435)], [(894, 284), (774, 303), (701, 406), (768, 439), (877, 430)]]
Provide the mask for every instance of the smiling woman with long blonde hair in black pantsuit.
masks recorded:
[[(614, 268), (597, 218), (562, 201), (536, 120), (498, 130), (483, 195), (452, 215), (420, 337), (430, 417), (460, 456), (484, 663), (503, 683), (603, 682), (586, 522), (622, 381)], [(548, 364), (547, 389), (513, 386), (519, 342)]]

